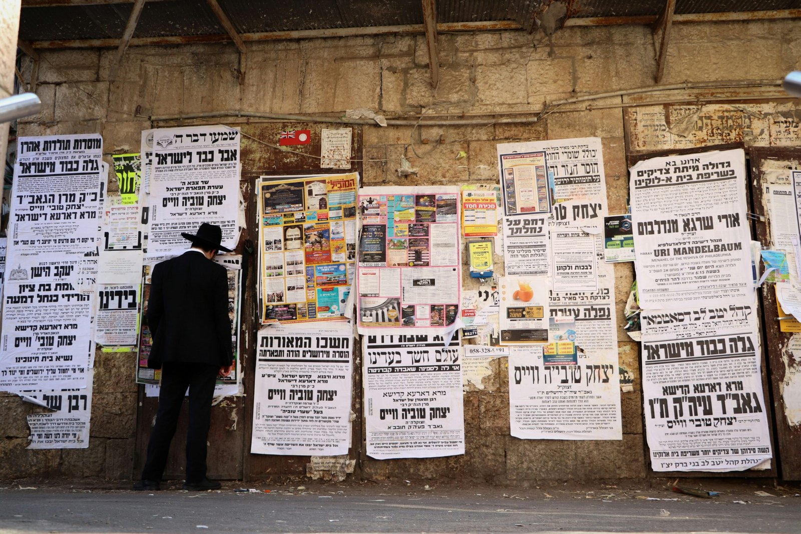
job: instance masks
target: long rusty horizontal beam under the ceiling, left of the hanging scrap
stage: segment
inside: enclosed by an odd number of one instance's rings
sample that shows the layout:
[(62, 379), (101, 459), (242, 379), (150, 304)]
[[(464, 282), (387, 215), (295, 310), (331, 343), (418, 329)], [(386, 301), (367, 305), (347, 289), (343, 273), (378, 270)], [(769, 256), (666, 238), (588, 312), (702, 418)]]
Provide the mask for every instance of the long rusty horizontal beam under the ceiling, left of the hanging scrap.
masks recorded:
[[(152, 1), (152, 0), (151, 0)], [(439, 33), (481, 31), (481, 30), (520, 30), (520, 25), (512, 21), (497, 22), (445, 22), (437, 24)], [(425, 25), (406, 24), (400, 26), (364, 26), (359, 28), (330, 28), (327, 30), (270, 31), (239, 34), (244, 42), (284, 41), (294, 39), (317, 39), (328, 37), (359, 37), (364, 35), (425, 34)], [(187, 45), (207, 42), (230, 42), (225, 34), (218, 35), (169, 35), (166, 37), (136, 37), (130, 46)], [(113, 48), (119, 39), (58, 39), (34, 41), (35, 49), (50, 48)]]

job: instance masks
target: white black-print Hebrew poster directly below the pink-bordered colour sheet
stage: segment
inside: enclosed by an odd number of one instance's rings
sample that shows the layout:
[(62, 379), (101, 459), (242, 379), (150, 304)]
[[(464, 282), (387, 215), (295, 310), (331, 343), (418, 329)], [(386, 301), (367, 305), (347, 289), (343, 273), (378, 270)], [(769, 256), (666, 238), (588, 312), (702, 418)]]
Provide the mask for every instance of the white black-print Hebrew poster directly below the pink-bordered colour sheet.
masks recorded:
[(465, 454), (459, 339), (365, 335), (364, 425), (377, 460)]

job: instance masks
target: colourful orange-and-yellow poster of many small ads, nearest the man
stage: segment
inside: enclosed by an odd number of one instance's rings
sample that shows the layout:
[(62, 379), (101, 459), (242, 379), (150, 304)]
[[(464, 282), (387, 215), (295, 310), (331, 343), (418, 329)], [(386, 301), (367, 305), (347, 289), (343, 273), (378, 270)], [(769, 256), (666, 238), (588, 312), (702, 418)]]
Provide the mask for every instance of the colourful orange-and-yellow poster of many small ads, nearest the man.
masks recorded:
[(259, 181), (262, 323), (343, 319), (356, 270), (357, 173)]

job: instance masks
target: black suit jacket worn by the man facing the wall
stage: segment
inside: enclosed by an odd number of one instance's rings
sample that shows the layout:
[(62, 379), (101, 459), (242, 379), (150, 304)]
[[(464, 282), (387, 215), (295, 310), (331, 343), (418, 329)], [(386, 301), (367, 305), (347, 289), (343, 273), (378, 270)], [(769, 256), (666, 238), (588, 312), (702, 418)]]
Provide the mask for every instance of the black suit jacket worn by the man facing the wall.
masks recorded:
[(225, 267), (198, 251), (167, 259), (153, 269), (147, 301), (153, 345), (148, 367), (163, 362), (233, 362)]

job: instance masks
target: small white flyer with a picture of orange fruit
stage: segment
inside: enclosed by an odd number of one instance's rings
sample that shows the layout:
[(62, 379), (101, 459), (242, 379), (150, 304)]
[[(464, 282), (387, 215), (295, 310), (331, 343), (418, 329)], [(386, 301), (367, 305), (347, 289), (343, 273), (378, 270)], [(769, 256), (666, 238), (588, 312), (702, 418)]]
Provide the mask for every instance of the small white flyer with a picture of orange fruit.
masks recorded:
[(499, 282), (501, 345), (548, 342), (547, 276), (504, 276)]

